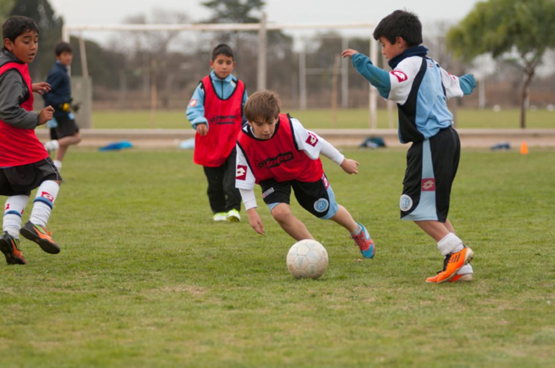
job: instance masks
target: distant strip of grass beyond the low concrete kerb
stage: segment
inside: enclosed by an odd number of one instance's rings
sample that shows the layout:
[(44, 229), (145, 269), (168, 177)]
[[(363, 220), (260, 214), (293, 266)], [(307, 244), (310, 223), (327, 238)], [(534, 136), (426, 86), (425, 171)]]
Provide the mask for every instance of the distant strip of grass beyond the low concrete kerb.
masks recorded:
[[(299, 119), (310, 129), (318, 128), (358, 128), (370, 127), (367, 109), (337, 110), (336, 122), (332, 122), (331, 110), (284, 110)], [(499, 112), (475, 109), (459, 109), (457, 127), (460, 128), (519, 128), (517, 109)], [(527, 112), (527, 127), (555, 128), (555, 111), (536, 110)], [(151, 122), (150, 111), (94, 111), (93, 125), (98, 129), (188, 129), (189, 121), (185, 110), (158, 110)], [(393, 112), (393, 126), (397, 126), (397, 111)], [(386, 110), (378, 110), (378, 128), (388, 128)]]

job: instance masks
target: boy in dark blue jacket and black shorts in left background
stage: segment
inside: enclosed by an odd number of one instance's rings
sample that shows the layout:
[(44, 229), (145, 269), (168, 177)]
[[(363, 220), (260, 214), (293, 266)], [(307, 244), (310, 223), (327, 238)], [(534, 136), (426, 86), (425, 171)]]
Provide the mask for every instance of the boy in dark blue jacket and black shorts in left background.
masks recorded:
[(51, 90), (43, 95), (46, 106), (54, 106), (54, 118), (48, 122), (50, 127), (51, 141), (44, 144), (48, 151), (56, 151), (54, 165), (60, 170), (65, 152), (70, 145), (76, 145), (81, 141), (79, 127), (75, 124), (73, 116), (71, 83), (69, 80), (69, 65), (72, 61), (72, 48), (66, 42), (60, 42), (54, 47), (56, 63), (48, 73), (47, 83)]

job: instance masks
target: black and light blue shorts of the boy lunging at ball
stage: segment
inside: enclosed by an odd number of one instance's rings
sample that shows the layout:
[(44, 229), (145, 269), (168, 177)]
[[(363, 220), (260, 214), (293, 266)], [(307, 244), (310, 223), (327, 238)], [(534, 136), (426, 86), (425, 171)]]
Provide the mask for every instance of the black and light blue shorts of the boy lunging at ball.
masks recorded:
[(268, 179), (261, 181), (260, 187), (262, 187), (264, 203), (270, 207), (270, 211), (279, 203), (289, 205), (291, 187), (295, 192), (297, 202), (316, 217), (328, 219), (333, 217), (338, 209), (334, 191), (325, 175), (314, 182), (297, 180), (279, 182), (275, 179)]

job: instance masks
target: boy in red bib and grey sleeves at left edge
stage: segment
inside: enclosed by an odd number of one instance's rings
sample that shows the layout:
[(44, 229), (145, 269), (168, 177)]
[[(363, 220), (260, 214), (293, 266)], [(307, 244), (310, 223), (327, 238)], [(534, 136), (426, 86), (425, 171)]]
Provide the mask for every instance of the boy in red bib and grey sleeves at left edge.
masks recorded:
[[(62, 181), (56, 166), (35, 135), (34, 129), (52, 119), (47, 106), (33, 112), (33, 92), (47, 93), (48, 83), (31, 83), (28, 63), (38, 49), (38, 26), (31, 18), (9, 17), (2, 25), (4, 48), (0, 54), (0, 195), (4, 205), (0, 251), (8, 264), (25, 264), (19, 249), (19, 233), (36, 242), (44, 252), (60, 248), (46, 231), (54, 200)], [(37, 195), (29, 221), (22, 227), (22, 214), (34, 188)]]

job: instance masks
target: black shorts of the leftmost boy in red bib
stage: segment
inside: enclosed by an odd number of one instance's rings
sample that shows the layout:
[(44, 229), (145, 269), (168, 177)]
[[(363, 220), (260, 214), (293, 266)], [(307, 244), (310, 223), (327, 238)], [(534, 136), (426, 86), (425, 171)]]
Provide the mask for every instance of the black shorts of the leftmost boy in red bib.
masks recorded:
[(62, 180), (50, 157), (28, 165), (0, 168), (0, 196), (28, 196), (45, 180)]

